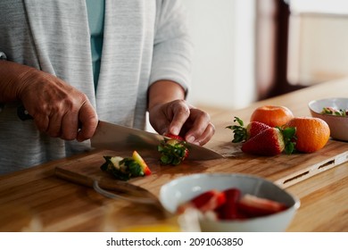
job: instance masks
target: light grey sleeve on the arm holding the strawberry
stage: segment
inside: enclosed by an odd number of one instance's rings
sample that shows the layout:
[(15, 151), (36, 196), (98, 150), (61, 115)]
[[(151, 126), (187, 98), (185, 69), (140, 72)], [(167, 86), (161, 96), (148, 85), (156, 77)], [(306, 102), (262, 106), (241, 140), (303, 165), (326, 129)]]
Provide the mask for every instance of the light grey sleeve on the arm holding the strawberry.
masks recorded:
[(172, 80), (184, 87), (187, 93), (192, 56), (186, 9), (181, 0), (157, 0), (150, 84), (160, 79)]

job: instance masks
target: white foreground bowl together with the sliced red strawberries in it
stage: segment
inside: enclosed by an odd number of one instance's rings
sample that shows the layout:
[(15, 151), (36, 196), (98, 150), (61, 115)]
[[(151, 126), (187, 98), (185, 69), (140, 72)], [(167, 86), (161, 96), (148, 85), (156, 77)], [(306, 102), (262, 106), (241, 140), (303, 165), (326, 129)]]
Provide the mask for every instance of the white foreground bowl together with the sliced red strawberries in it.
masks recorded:
[(198, 213), (202, 231), (285, 231), (300, 201), (267, 179), (245, 174), (201, 173), (163, 185), (169, 212)]

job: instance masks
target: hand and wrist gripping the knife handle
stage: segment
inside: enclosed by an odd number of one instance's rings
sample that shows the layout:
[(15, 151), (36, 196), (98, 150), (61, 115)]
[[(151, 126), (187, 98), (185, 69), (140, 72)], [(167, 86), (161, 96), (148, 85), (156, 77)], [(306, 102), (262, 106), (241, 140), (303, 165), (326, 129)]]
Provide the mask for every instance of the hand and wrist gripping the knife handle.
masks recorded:
[(83, 141), (94, 135), (98, 118), (85, 94), (52, 74), (13, 64), (11, 67), (23, 67), (10, 79), (14, 95), (33, 117), (37, 129), (65, 140)]

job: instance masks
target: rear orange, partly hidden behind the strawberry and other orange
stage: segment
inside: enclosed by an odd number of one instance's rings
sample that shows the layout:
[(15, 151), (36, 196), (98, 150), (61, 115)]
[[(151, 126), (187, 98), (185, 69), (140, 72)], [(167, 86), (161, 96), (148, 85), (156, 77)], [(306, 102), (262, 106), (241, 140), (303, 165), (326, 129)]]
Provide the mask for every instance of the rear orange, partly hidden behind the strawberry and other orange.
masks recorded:
[(270, 127), (280, 127), (294, 118), (285, 106), (264, 105), (253, 111), (250, 121), (260, 121)]

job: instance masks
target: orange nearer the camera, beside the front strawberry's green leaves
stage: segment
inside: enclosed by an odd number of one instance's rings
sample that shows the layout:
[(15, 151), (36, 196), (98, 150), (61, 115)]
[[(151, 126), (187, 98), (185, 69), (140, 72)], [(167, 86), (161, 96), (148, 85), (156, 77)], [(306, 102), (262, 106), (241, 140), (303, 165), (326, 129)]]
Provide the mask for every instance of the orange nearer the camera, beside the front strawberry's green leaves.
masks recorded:
[(295, 148), (302, 153), (318, 151), (327, 144), (330, 129), (327, 122), (314, 117), (295, 117), (284, 127), (296, 128)]

